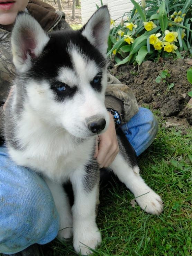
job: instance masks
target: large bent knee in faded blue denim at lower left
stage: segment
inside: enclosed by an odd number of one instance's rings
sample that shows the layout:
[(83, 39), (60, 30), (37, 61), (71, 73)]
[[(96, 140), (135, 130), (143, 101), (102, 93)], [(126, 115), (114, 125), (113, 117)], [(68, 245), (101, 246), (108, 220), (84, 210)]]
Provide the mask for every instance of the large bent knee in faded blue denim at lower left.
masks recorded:
[(53, 240), (59, 216), (45, 181), (24, 167), (5, 168), (0, 170), (0, 252), (12, 254)]

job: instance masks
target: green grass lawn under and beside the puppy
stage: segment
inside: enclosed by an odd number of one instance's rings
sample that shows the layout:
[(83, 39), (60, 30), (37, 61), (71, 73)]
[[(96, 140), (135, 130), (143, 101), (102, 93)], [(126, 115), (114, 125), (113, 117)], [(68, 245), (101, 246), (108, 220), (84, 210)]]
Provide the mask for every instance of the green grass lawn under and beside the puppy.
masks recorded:
[[(139, 157), (141, 176), (164, 202), (160, 216), (145, 213), (120, 182), (101, 189), (97, 224), (102, 244), (94, 256), (192, 255), (192, 129), (165, 128)], [(73, 256), (72, 241), (54, 240), (42, 255)]]

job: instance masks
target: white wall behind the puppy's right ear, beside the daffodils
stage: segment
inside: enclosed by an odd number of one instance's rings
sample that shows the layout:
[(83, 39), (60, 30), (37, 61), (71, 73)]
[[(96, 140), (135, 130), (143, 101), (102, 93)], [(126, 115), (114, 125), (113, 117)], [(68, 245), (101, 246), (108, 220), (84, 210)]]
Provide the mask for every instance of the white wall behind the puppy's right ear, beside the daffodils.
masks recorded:
[[(91, 17), (93, 12), (97, 10), (96, 4), (100, 7), (100, 0), (81, 0), (81, 18), (82, 24), (85, 24), (86, 21)], [(117, 19), (122, 17), (126, 11), (129, 11), (133, 8), (133, 5), (130, 0), (103, 0), (103, 5), (108, 5), (111, 18)], [(121, 19), (118, 19), (118, 23)]]

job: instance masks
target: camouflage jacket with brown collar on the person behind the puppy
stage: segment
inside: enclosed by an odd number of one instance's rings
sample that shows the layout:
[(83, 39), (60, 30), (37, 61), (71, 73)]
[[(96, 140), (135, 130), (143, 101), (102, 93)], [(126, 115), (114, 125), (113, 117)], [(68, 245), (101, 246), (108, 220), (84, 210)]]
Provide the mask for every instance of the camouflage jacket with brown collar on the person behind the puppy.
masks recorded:
[[(45, 31), (57, 29), (71, 29), (65, 21), (65, 14), (40, 0), (30, 0), (27, 10)], [(12, 63), (11, 31), (0, 25), (0, 129), (2, 127), (2, 105), (8, 96), (11, 82), (15, 77), (15, 68)], [(118, 79), (108, 74), (106, 91), (106, 107), (116, 109), (122, 114), (122, 122), (127, 122), (138, 112), (137, 101), (130, 88), (122, 85)], [(1, 134), (1, 133), (0, 133)]]

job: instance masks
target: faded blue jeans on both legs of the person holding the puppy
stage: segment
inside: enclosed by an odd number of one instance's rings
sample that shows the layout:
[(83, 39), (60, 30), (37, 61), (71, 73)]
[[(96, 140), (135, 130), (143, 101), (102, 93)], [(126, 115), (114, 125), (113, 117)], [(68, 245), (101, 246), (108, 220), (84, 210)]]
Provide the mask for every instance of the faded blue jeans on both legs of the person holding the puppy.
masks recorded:
[[(158, 125), (146, 108), (122, 125), (137, 156), (154, 140)], [(59, 229), (59, 216), (44, 180), (17, 166), (0, 147), (0, 253), (13, 254), (32, 244), (46, 244)]]

